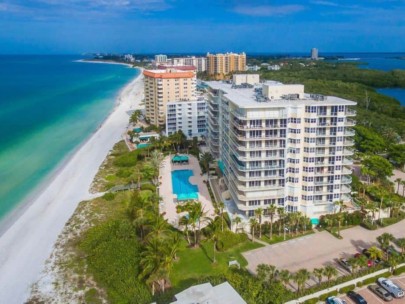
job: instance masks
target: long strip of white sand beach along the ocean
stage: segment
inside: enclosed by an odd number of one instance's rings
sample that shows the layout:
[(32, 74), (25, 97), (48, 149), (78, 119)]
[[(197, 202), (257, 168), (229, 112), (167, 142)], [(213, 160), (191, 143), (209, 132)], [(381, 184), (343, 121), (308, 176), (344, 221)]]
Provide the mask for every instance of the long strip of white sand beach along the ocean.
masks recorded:
[(46, 259), (80, 201), (91, 198), (90, 185), (100, 165), (126, 130), (129, 111), (140, 108), (142, 73), (117, 97), (103, 125), (29, 204), (0, 237), (0, 303), (24, 303)]

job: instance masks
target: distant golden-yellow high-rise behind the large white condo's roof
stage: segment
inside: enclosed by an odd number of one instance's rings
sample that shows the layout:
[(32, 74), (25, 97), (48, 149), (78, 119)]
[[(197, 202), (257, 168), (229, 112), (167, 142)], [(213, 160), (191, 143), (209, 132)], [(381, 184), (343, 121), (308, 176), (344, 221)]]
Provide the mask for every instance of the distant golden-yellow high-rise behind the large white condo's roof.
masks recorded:
[(207, 72), (209, 75), (227, 75), (230, 72), (245, 71), (245, 69), (245, 53), (207, 54)]

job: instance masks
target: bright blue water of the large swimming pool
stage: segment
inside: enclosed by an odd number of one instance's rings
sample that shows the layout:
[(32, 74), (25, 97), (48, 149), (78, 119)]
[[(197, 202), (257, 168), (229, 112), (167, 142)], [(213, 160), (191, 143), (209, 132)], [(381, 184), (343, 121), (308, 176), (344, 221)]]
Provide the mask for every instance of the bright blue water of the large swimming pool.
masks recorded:
[(192, 170), (172, 171), (172, 189), (177, 195), (177, 200), (198, 199), (198, 187), (188, 181), (191, 176), (193, 176)]

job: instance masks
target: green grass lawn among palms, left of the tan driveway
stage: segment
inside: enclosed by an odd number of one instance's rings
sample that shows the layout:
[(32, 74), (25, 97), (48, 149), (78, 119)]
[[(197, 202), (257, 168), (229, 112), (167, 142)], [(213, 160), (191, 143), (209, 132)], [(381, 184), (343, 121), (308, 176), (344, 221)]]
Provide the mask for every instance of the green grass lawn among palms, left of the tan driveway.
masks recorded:
[(170, 275), (172, 286), (176, 290), (183, 290), (201, 277), (223, 274), (228, 271), (228, 262), (237, 260), (241, 267), (247, 265), (242, 252), (262, 247), (258, 243), (246, 241), (225, 251), (216, 252), (216, 263), (213, 260), (213, 244), (211, 241), (203, 242), (198, 248), (188, 248), (187, 242), (181, 244), (178, 262), (174, 265)]

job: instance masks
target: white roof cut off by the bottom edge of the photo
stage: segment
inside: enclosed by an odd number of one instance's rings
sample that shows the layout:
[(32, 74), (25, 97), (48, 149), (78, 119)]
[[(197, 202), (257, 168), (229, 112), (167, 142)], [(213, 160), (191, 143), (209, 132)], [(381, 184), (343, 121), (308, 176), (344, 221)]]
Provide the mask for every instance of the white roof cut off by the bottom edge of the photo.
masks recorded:
[(212, 286), (211, 283), (192, 286), (175, 295), (172, 304), (246, 304), (245, 300), (228, 283)]

